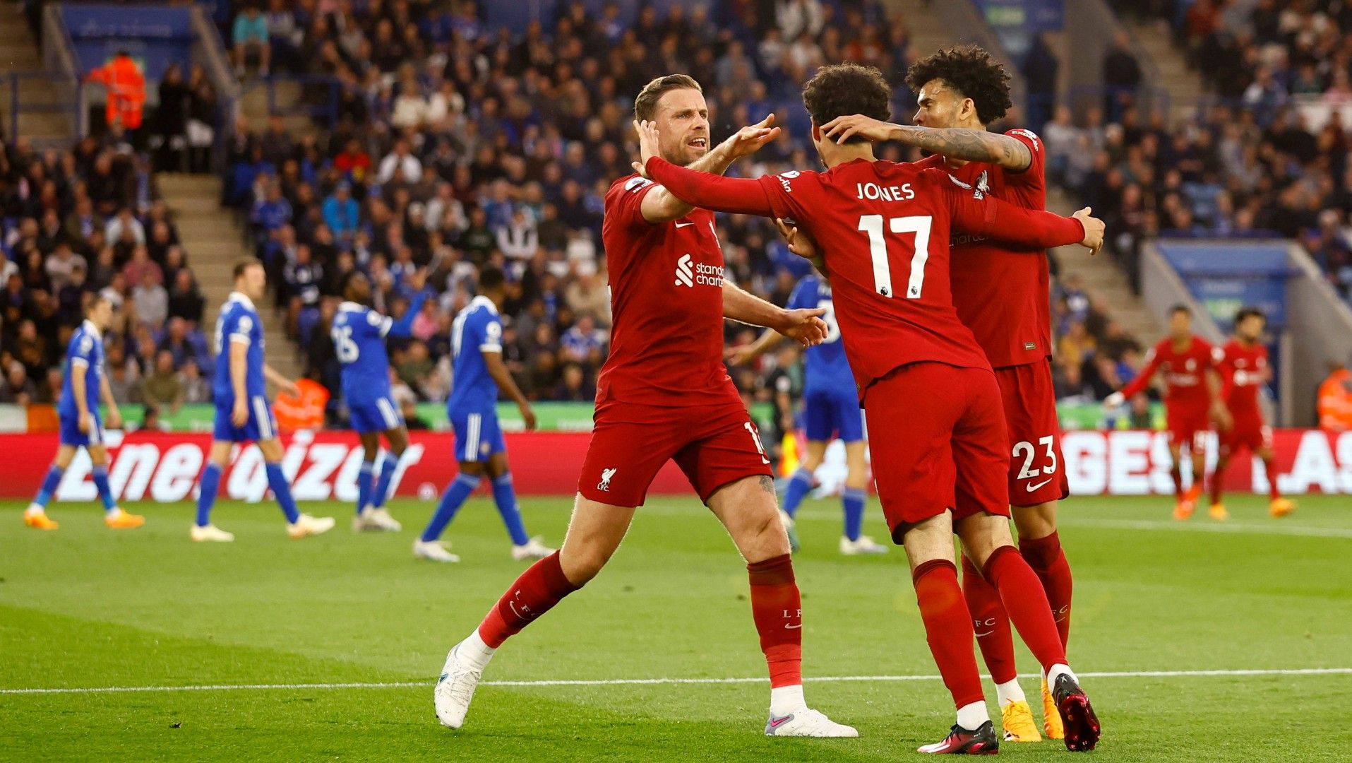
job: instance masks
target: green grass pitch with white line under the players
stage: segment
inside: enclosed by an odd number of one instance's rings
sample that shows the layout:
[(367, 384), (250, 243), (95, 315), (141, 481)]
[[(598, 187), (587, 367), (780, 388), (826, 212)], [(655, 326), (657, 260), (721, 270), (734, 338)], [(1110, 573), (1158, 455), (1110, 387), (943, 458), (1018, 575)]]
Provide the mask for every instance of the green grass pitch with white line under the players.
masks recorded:
[[(1080, 671), (1352, 667), (1352, 506), (1306, 496), (1286, 519), (1230, 496), (1226, 530), (1175, 526), (1159, 498), (1076, 498), (1061, 537), (1075, 568), (1071, 657)], [(557, 542), (568, 499), (526, 499)], [(222, 503), (238, 540), (188, 541), (192, 509), (132, 505), (112, 532), (57, 505), (59, 530), (0, 503), (0, 689), (418, 682), (379, 689), (0, 694), (4, 760), (900, 760), (938, 740), (938, 680), (808, 682), (857, 740), (761, 736), (767, 685), (480, 687), (466, 725), (437, 724), (431, 685), (525, 563), (488, 499), (450, 528), (461, 564), (415, 560), (431, 505), (395, 502), (406, 529), (291, 541), (270, 503)], [(1199, 514), (1205, 514), (1199, 511)], [(836, 552), (840, 505), (808, 501), (803, 590), (811, 676), (933, 675), (900, 549)], [(867, 532), (886, 536), (871, 506)], [(1036, 671), (1019, 647), (1019, 666)], [(763, 678), (746, 574), (694, 498), (639, 510), (610, 567), (511, 640), (485, 680)], [(1023, 679), (1033, 699), (1036, 679)], [(1099, 760), (1345, 760), (1352, 675), (1103, 676), (1084, 680), (1106, 728)], [(987, 690), (995, 710), (994, 689)], [(996, 716), (998, 717), (998, 716)], [(1068, 755), (1060, 743), (1000, 755)]]

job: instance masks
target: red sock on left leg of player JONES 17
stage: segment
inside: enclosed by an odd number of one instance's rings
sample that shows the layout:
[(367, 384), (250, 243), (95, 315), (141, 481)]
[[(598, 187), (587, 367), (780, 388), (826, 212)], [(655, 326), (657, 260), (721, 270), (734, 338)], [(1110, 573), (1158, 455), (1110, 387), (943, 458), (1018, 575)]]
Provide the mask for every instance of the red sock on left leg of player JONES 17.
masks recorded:
[(972, 653), (972, 616), (957, 586), (957, 567), (946, 559), (932, 559), (911, 572), (911, 580), (925, 622), (925, 640), (944, 686), (953, 694), (953, 706), (983, 702), (982, 674)]

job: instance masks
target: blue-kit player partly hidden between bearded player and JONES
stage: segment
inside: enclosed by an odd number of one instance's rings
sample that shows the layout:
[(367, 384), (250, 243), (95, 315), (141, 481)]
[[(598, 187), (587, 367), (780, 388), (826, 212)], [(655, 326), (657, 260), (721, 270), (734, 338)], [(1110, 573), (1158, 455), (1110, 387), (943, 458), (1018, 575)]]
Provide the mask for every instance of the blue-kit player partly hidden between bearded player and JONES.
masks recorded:
[[(794, 551), (798, 551), (798, 534), (794, 532), (794, 514), (807, 491), (813, 488), (813, 473), (822, 465), (826, 446), (833, 438), (845, 442), (845, 491), (841, 502), (845, 506), (845, 534), (840, 549), (846, 556), (859, 553), (887, 553), (887, 547), (863, 534), (864, 501), (868, 494), (868, 469), (864, 465), (864, 417), (859, 407), (859, 392), (854, 390), (854, 376), (845, 360), (845, 345), (841, 342), (840, 325), (836, 322), (836, 308), (831, 303), (831, 287), (815, 273), (798, 281), (788, 298), (788, 310), (822, 308), (826, 313), (826, 341), (807, 348), (803, 383), (803, 419), (807, 434), (807, 453), (784, 491), (781, 519), (790, 530)], [(734, 364), (748, 363), (779, 346), (783, 336), (765, 331), (749, 345), (729, 350)]]

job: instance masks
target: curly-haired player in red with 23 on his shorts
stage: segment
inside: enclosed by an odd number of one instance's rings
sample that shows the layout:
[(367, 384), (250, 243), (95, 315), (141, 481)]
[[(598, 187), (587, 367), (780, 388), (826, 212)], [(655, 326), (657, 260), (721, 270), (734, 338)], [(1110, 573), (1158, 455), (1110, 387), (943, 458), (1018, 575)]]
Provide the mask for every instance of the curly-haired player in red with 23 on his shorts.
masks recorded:
[[(1026, 210), (1046, 207), (1045, 152), (1028, 130), (987, 131), (1010, 108), (1009, 73), (976, 46), (941, 49), (911, 65), (906, 83), (918, 93), (915, 126), (864, 115), (822, 126), (829, 138), (863, 135), (899, 141), (932, 156), (917, 162), (945, 169), (973, 193)], [(1071, 565), (1056, 532), (1056, 502), (1069, 495), (1061, 468), (1061, 426), (1052, 386), (1051, 273), (1045, 252), (959, 233), (949, 249), (949, 283), (957, 317), (995, 369), (1009, 433), (1009, 491), (1018, 547), (1042, 582), (1061, 643), (1069, 641)], [(1041, 741), (1033, 712), (1018, 685), (1014, 639), (999, 593), (963, 555), (963, 594), (976, 643), (995, 680), (1006, 741)], [(1061, 739), (1061, 718), (1042, 682), (1046, 736)]]

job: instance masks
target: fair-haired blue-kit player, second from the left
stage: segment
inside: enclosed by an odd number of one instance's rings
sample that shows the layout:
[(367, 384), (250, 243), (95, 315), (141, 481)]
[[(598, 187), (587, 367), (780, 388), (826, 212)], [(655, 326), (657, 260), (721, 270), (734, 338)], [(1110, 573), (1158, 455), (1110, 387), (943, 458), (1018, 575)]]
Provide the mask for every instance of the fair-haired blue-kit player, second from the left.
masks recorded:
[(262, 450), (268, 487), (277, 496), (287, 515), (287, 534), (293, 538), (329, 532), (333, 517), (311, 517), (296, 509), (291, 484), (281, 471), (281, 441), (277, 419), (265, 395), (265, 382), (296, 394), (296, 386), (264, 363), (262, 322), (254, 300), (262, 299), (268, 284), (262, 262), (242, 260), (235, 264), (235, 291), (220, 306), (216, 317), (216, 379), (211, 396), (216, 403), (216, 422), (207, 467), (201, 469), (201, 494), (197, 496), (197, 521), (192, 526), (195, 541), (230, 542), (235, 536), (211, 524), (211, 507), (220, 487), (220, 472), (230, 461), (230, 450), (239, 442), (257, 442)]

